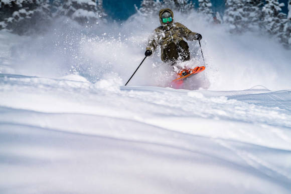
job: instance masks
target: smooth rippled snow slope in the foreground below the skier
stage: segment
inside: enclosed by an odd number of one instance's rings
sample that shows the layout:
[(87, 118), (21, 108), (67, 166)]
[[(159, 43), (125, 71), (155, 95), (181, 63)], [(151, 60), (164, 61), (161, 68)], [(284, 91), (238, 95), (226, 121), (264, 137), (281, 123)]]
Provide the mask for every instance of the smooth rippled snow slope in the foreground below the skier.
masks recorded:
[[(1, 74), (3, 193), (289, 193), (291, 91)], [(104, 87), (106, 85), (106, 87)]]

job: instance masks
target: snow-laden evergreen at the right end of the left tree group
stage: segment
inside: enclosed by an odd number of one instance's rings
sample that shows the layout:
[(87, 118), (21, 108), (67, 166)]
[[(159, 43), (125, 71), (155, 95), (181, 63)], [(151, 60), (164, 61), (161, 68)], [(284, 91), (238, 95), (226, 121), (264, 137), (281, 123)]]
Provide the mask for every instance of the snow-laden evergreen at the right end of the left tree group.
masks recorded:
[(66, 16), (79, 24), (96, 24), (96, 21), (106, 16), (102, 7), (103, 1), (99, 0), (64, 0), (63, 7), (57, 16)]

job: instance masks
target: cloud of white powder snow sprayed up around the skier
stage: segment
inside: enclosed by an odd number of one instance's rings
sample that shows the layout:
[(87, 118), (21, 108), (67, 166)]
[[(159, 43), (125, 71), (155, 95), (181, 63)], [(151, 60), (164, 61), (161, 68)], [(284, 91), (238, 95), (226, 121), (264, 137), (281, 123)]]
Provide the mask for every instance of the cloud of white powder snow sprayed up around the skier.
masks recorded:
[[(206, 71), (190, 80), (200, 82), (201, 88), (291, 88), (291, 52), (267, 35), (229, 34), (226, 26), (209, 23), (196, 12), (176, 12), (174, 20), (203, 36)], [(158, 17), (143, 20), (138, 14), (122, 23), (102, 23), (94, 28), (56, 21), (44, 36), (19, 38), (11, 50), (10, 63), (16, 74), (53, 78), (79, 74), (95, 83), (113, 73), (125, 83), (142, 61), (148, 38), (159, 25)], [(198, 42), (188, 44), (192, 59), (186, 65), (203, 65)], [(173, 68), (161, 61), (158, 49), (144, 61), (130, 84), (167, 87), (174, 77)]]

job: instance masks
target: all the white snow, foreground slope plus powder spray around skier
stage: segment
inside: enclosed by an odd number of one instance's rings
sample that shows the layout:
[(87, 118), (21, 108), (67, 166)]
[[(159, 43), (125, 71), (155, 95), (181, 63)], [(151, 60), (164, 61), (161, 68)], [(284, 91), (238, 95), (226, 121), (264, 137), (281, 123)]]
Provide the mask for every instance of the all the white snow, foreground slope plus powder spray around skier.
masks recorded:
[[(203, 35), (205, 72), (169, 88), (156, 52), (125, 87), (159, 23), (135, 17), (0, 32), (0, 192), (290, 193), (290, 51), (176, 14)], [(182, 65), (203, 64), (189, 45)]]

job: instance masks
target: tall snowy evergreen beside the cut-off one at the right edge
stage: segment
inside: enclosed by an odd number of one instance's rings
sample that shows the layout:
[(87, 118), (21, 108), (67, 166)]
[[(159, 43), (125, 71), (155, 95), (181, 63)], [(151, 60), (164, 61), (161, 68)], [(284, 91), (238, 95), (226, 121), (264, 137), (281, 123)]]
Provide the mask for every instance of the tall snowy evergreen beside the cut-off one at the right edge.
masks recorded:
[(266, 4), (262, 8), (263, 27), (271, 35), (281, 39), (286, 22), (286, 15), (281, 13), (281, 7), (284, 4), (279, 4), (278, 0), (266, 0)]

